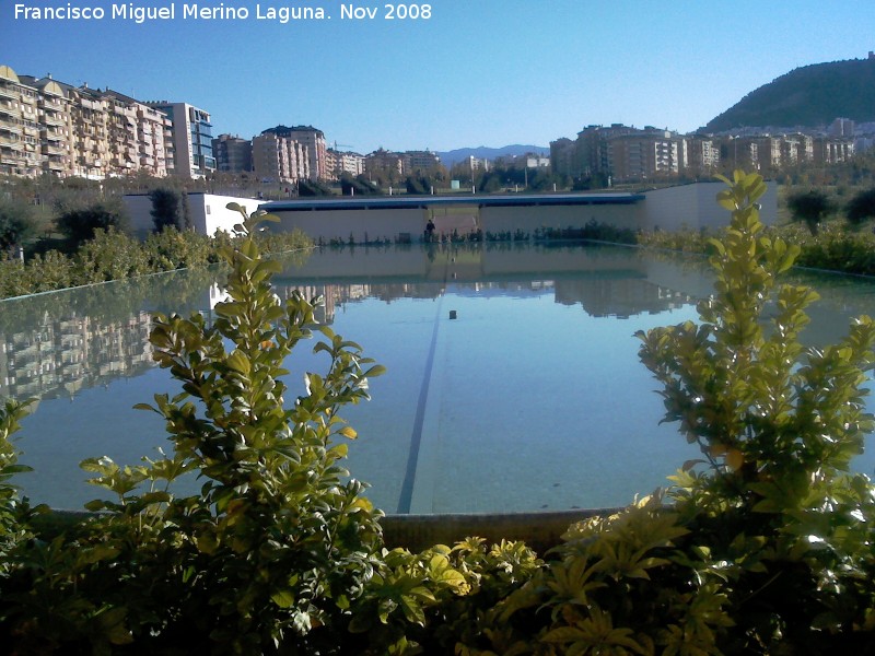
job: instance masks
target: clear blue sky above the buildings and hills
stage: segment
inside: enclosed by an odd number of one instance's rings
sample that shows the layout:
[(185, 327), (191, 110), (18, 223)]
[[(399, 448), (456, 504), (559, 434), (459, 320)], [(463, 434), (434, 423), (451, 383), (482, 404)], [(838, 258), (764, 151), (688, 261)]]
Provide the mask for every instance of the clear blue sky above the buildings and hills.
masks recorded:
[[(432, 0), (417, 20), (389, 20), (384, 1), (368, 0), (115, 3), (175, 8), (141, 24), (113, 19), (113, 4), (0, 0), (0, 65), (187, 102), (211, 114), (214, 134), (313, 125), (361, 153), (546, 147), (591, 124), (686, 132), (794, 68), (875, 50), (872, 0)], [(192, 4), (248, 17), (186, 17)], [(341, 5), (376, 17), (342, 19)], [(33, 17), (46, 7), (105, 14)], [(259, 7), (326, 17), (281, 23)]]

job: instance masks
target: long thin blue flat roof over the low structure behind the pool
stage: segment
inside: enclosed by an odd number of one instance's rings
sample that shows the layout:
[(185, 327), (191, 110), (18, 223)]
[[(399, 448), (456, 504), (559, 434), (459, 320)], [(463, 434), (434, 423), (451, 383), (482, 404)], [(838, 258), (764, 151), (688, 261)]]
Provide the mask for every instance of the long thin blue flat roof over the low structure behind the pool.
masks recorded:
[(643, 194), (508, 194), (490, 196), (343, 196), (279, 200), (259, 206), (268, 212), (304, 212), (319, 210), (411, 210), (435, 207), (477, 206), (511, 208), (538, 206), (633, 204), (644, 200)]

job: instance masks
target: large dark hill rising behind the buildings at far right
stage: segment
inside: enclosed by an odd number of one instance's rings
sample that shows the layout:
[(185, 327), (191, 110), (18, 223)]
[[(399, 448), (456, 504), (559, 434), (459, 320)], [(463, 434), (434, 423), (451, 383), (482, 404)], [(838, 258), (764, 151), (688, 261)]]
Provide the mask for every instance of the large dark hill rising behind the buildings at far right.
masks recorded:
[(875, 121), (875, 57), (797, 68), (747, 94), (705, 126), (825, 126), (833, 119)]

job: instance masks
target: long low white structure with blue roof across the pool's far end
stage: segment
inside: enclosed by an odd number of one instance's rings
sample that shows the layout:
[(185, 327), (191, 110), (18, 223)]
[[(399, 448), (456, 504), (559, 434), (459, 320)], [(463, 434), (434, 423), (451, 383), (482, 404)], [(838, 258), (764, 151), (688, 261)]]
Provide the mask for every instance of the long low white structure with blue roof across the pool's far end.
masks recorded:
[[(778, 187), (767, 183), (760, 219), (771, 224), (778, 215)], [(500, 194), (468, 196), (328, 197), (262, 202), (255, 199), (189, 194), (192, 227), (212, 235), (230, 232), (240, 221), (225, 209), (237, 202), (249, 212), (257, 207), (280, 216), (271, 230), (300, 229), (314, 241), (355, 243), (419, 242), (431, 219), (438, 234), (522, 231), (534, 234), (544, 227), (582, 227), (590, 222), (631, 230), (714, 229), (728, 222), (730, 213), (715, 202), (722, 183), (695, 183), (642, 194)], [(129, 195), (125, 203), (133, 230), (144, 236), (152, 230), (148, 195)]]

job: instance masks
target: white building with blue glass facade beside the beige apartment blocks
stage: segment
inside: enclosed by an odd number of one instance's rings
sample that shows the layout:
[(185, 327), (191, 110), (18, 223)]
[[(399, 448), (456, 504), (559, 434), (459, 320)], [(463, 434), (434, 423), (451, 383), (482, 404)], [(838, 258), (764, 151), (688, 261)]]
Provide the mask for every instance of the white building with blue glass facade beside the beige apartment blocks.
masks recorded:
[(173, 159), (168, 173), (199, 179), (215, 171), (212, 153), (210, 115), (188, 103), (147, 102), (147, 106), (164, 114), (171, 121), (168, 144)]

